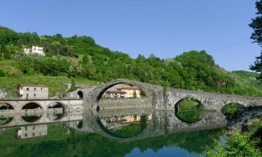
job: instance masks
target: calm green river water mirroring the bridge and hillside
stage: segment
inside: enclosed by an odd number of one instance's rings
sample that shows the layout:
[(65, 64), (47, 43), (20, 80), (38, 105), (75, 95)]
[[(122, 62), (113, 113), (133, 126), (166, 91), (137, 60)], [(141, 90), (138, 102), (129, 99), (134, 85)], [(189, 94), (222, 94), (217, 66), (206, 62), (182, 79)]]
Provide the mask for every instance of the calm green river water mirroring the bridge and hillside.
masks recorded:
[(2, 115), (0, 156), (204, 156), (226, 123), (221, 112), (145, 108)]

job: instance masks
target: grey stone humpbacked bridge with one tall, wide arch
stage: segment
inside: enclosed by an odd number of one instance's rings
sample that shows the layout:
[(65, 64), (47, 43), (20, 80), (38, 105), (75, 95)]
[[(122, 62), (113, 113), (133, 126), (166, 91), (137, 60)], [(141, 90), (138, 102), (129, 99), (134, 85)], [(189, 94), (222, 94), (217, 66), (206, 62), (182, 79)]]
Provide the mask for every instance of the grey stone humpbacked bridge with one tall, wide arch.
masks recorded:
[(96, 107), (99, 106), (101, 96), (107, 89), (115, 86), (116, 84), (123, 83), (132, 84), (133, 86), (139, 87), (142, 91), (144, 91), (147, 97), (151, 98), (152, 107), (156, 110), (174, 110), (175, 105), (177, 105), (177, 103), (184, 98), (198, 100), (205, 106), (206, 110), (221, 110), (221, 108), (228, 103), (240, 103), (245, 107), (262, 105), (262, 97), (237, 96), (173, 88), (164, 89), (161, 86), (147, 84), (144, 82), (117, 79), (83, 92), (85, 108), (95, 110)]

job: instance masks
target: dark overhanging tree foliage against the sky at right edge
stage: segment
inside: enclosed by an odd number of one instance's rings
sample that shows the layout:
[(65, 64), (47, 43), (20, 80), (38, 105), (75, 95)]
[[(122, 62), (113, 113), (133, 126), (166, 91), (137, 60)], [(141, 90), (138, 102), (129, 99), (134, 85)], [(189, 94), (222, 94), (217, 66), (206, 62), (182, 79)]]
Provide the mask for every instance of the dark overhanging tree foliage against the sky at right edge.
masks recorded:
[[(256, 10), (258, 15), (256, 18), (252, 19), (252, 23), (249, 24), (249, 27), (254, 29), (251, 38), (254, 40), (254, 43), (258, 43), (262, 46), (262, 1), (256, 1)], [(250, 66), (251, 70), (255, 70), (260, 73), (257, 79), (262, 82), (262, 52), (259, 57), (256, 57), (254, 65)]]

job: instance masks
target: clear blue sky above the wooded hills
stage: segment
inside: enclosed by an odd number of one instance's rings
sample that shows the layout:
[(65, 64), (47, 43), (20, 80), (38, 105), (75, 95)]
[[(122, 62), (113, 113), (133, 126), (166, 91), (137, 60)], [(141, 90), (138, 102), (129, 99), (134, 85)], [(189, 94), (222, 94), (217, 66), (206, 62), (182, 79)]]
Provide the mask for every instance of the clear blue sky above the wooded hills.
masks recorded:
[(248, 70), (261, 47), (249, 39), (255, 0), (2, 0), (0, 25), (39, 35), (92, 36), (137, 57), (207, 50), (226, 70)]

